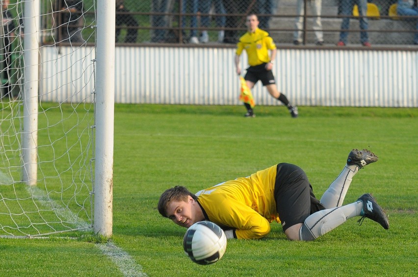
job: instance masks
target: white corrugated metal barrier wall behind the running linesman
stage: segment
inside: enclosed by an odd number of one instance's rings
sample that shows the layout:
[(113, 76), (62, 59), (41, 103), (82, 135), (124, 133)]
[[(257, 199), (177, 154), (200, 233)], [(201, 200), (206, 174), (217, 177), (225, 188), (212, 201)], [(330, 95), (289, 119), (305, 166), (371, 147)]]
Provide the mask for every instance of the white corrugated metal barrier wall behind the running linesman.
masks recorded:
[[(60, 48), (59, 53), (54, 46), (40, 49), (40, 99), (78, 102), (92, 97), (92, 67), (81, 57), (90, 53), (85, 60), (94, 59), (93, 47)], [(115, 102), (242, 105), (234, 55), (229, 47), (118, 46)], [(246, 65), (247, 56), (241, 58)], [(276, 59), (277, 86), (295, 105), (418, 107), (417, 51), (294, 47), (279, 49)], [(79, 77), (68, 74), (69, 65)], [(260, 83), (252, 92), (256, 105), (281, 105)]]

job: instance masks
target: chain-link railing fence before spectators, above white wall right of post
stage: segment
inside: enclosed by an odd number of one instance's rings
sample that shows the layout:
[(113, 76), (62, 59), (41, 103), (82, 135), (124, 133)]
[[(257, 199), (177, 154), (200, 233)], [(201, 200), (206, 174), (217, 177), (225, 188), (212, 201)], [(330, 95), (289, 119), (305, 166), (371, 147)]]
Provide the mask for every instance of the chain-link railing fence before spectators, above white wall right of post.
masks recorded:
[(279, 46), (411, 46), (417, 0), (116, 0), (119, 44), (235, 44), (259, 16)]

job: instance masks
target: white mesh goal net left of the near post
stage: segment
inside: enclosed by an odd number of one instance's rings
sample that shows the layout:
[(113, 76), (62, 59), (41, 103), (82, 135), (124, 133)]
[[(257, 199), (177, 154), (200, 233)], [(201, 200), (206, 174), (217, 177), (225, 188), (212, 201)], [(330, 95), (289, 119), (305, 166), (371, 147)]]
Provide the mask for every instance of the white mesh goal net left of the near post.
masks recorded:
[(93, 0), (1, 0), (0, 236), (92, 231)]

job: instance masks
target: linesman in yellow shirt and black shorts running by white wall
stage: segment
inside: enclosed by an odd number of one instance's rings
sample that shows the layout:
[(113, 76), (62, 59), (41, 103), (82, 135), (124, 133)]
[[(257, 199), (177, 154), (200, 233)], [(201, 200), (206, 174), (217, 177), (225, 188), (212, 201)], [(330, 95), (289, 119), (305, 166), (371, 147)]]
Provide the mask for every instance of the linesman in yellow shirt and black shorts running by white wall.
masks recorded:
[[(236, 73), (238, 75), (241, 74), (239, 57), (241, 56), (242, 50), (245, 49), (245, 51), (247, 51), (248, 63), (250, 65), (244, 77), (248, 88), (251, 90), (254, 85), (261, 80), (262, 85), (267, 88), (268, 93), (270, 93), (270, 95), (274, 98), (280, 100), (287, 107), (292, 117), (297, 117), (297, 107), (292, 106), (289, 103), (289, 100), (287, 100), (286, 95), (277, 90), (273, 72), (271, 72), (277, 51), (273, 39), (266, 31), (259, 29), (259, 20), (257, 15), (248, 15), (245, 24), (247, 25), (248, 31), (239, 38), (239, 42), (236, 45)], [(271, 52), (270, 56), (268, 55), (268, 50)], [(254, 114), (251, 106), (247, 103), (244, 103), (244, 105), (245, 108), (247, 108), (245, 117), (255, 117), (256, 115)]]

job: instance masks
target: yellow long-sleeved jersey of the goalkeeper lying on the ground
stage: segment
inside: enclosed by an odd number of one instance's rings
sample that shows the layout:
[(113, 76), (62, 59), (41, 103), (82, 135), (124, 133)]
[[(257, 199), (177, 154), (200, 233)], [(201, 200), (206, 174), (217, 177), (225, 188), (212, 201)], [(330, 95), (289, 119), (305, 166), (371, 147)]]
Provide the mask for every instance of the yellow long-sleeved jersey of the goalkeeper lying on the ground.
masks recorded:
[(227, 181), (196, 193), (207, 219), (235, 229), (237, 238), (261, 238), (273, 220), (280, 222), (274, 200), (277, 165), (249, 177)]

